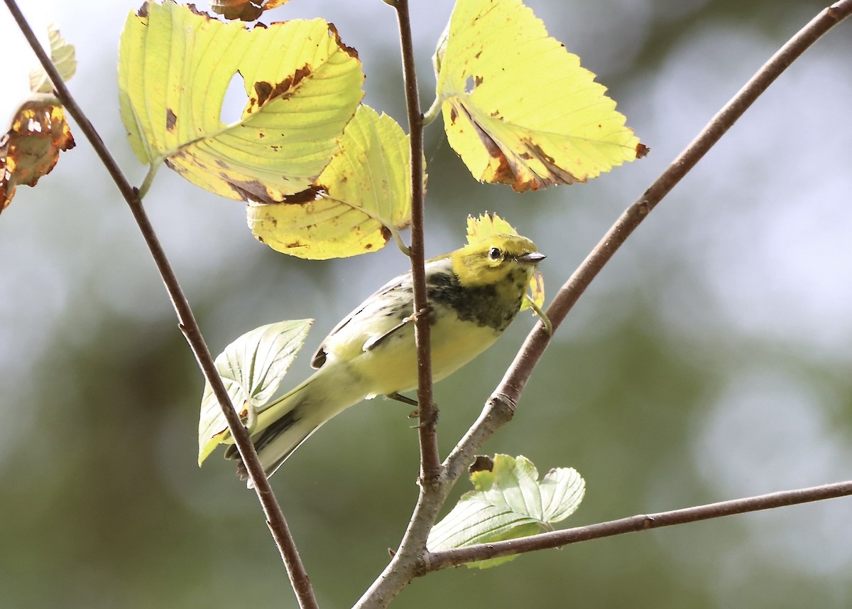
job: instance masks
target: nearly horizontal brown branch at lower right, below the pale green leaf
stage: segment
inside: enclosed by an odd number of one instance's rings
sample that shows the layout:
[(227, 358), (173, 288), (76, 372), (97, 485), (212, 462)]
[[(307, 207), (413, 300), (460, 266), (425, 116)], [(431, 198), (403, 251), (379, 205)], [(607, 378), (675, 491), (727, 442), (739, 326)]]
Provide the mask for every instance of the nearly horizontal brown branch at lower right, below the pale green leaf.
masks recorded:
[(467, 548), (441, 550), (440, 552), (429, 553), (426, 556), (424, 570), (418, 575), (426, 575), (426, 573), (432, 571), (446, 569), (449, 566), (465, 565), (477, 560), (561, 548), (569, 543), (587, 542), (590, 539), (648, 531), (664, 526), (683, 525), (689, 522), (699, 522), (699, 520), (722, 518), (738, 513), (782, 508), (799, 503), (818, 502), (850, 495), (852, 495), (852, 480), (847, 480), (846, 482), (812, 486), (807, 489), (784, 490), (769, 495), (734, 499), (729, 502), (711, 503), (694, 508), (672, 510), (671, 512), (640, 514), (596, 525), (578, 526), (564, 531), (521, 537), (508, 542), (479, 543)]

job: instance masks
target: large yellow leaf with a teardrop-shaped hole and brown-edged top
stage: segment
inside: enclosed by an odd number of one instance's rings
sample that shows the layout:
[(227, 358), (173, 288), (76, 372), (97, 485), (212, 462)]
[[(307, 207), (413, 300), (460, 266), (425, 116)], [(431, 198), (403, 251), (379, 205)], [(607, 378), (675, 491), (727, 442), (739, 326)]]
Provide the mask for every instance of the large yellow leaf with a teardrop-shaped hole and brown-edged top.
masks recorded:
[[(225, 125), (222, 102), (238, 72), (245, 107)], [(128, 16), (119, 49), (121, 117), (136, 156), (237, 200), (308, 188), (337, 149), (363, 80), (354, 49), (321, 19), (247, 30), (145, 3)]]

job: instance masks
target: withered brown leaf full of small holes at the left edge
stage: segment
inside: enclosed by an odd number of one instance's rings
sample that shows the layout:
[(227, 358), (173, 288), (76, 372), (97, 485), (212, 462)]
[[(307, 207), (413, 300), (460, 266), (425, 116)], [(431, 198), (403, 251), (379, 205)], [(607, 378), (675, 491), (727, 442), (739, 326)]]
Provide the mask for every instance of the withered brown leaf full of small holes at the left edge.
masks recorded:
[(0, 136), (0, 212), (9, 206), (19, 184), (35, 186), (56, 165), (60, 151), (74, 148), (65, 110), (35, 94), (14, 114)]

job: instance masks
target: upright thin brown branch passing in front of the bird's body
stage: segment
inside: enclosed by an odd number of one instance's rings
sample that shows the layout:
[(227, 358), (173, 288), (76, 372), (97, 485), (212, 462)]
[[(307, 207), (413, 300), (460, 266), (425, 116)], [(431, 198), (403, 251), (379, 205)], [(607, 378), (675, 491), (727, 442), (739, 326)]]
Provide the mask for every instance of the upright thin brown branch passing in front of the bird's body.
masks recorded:
[(411, 15), (408, 0), (394, 2), (400, 24), (402, 73), (406, 87), (408, 131), (411, 141), (412, 169), (412, 278), (414, 283), (415, 339), (417, 343), (417, 403), (419, 403), (420, 467), (422, 482), (429, 484), (440, 476), (438, 439), (435, 422), (438, 409), (432, 392), (431, 341), (429, 336), (429, 299), (426, 294), (426, 271), (423, 254), (423, 115), (417, 91), (414, 67)]

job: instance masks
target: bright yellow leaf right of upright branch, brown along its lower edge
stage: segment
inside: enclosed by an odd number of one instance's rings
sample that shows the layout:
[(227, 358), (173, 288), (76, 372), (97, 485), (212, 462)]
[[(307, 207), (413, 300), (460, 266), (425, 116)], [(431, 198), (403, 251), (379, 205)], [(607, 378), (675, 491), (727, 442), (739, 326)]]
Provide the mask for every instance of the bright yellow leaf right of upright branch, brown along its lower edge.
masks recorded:
[(481, 182), (536, 190), (636, 159), (606, 88), (521, 0), (458, 0), (435, 69), (447, 139)]

